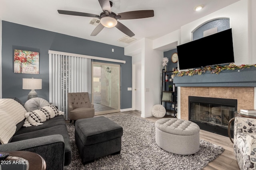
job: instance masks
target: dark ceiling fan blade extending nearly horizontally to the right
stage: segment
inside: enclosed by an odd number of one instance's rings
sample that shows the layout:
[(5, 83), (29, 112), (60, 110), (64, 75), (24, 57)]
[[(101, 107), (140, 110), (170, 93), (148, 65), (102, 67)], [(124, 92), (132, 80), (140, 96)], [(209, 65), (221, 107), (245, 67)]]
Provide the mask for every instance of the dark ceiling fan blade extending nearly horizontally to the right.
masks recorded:
[(121, 16), (119, 20), (149, 18), (154, 16), (154, 10), (129, 11), (129, 12), (122, 12), (116, 15)]

